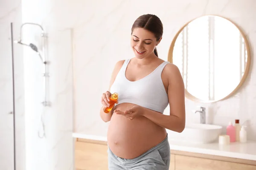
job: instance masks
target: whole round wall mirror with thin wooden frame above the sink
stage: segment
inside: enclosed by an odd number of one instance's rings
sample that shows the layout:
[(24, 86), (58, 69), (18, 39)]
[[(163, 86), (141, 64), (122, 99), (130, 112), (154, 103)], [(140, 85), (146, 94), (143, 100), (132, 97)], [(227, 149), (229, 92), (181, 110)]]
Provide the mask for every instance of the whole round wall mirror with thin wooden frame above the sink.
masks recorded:
[(235, 94), (243, 84), (250, 50), (244, 34), (230, 20), (203, 16), (178, 31), (169, 62), (180, 69), (187, 98), (216, 102)]

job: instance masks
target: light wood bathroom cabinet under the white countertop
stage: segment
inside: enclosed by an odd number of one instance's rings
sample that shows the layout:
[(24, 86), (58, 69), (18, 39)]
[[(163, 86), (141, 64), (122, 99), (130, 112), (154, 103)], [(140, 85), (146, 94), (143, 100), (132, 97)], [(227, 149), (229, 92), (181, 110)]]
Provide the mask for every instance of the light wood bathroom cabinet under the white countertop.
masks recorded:
[[(108, 170), (106, 142), (76, 139), (76, 170)], [(169, 170), (256, 170), (256, 161), (171, 150)]]

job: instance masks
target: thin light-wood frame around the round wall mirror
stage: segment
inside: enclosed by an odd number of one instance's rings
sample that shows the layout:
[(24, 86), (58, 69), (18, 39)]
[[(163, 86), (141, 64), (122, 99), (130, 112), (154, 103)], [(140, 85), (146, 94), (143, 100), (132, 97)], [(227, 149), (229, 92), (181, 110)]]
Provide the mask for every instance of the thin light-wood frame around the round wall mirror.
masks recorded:
[[(205, 16), (214, 16), (214, 17), (221, 17), (221, 16), (218, 16), (218, 15), (202, 15), (200, 17), (205, 17)], [(172, 60), (172, 53), (173, 53), (173, 49), (174, 49), (174, 45), (175, 45), (175, 42), (177, 40), (177, 37), (179, 36), (180, 32), (189, 24), (191, 23), (192, 21), (200, 18), (200, 17), (196, 17), (194, 18), (193, 20), (190, 20), (189, 22), (187, 22), (184, 26), (182, 26), (179, 31), (175, 34), (175, 37), (173, 38), (172, 40), (172, 43), (170, 45), (170, 48), (169, 48), (169, 52), (168, 52), (168, 61), (172, 64), (175, 64), (173, 63), (173, 60)], [(234, 23), (233, 21), (231, 21), (230, 19), (227, 19), (225, 17), (221, 17), (221, 18), (224, 18), (228, 21), (230, 21), (231, 23), (234, 24), (234, 26), (236, 26), (237, 29), (239, 29), (242, 37), (244, 38), (244, 43), (245, 43), (245, 48), (247, 50), (247, 63), (246, 63), (246, 67), (245, 67), (245, 70), (244, 70), (244, 75), (243, 77), (241, 78), (239, 84), (236, 86), (236, 88), (230, 93), (228, 94), (227, 96), (225, 96), (224, 98), (222, 99), (218, 99), (218, 100), (203, 100), (203, 99), (198, 99), (197, 97), (193, 96), (192, 94), (190, 94), (186, 89), (185, 89), (185, 97), (192, 100), (192, 101), (195, 101), (195, 102), (201, 102), (201, 103), (213, 103), (213, 102), (218, 102), (218, 101), (222, 101), (224, 99), (228, 99), (230, 98), (231, 96), (233, 96), (234, 94), (236, 94), (236, 92), (239, 90), (239, 88), (241, 88), (241, 86), (244, 84), (245, 82), (245, 79), (247, 78), (247, 75), (249, 73), (249, 70), (250, 70), (250, 62), (251, 62), (251, 53), (250, 53), (250, 45), (249, 45), (249, 42), (244, 34), (244, 32), (241, 30), (241, 28), (239, 28), (239, 26)]]

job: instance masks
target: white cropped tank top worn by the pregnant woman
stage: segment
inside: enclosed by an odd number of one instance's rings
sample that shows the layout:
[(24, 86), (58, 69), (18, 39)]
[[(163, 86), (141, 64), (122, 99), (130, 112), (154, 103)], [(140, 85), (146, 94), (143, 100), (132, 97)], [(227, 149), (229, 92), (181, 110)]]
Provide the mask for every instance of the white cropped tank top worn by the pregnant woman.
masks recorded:
[(163, 62), (146, 77), (132, 82), (125, 77), (125, 71), (130, 60), (125, 60), (110, 89), (111, 94), (118, 93), (117, 105), (133, 103), (163, 113), (169, 101), (161, 74), (169, 62)]

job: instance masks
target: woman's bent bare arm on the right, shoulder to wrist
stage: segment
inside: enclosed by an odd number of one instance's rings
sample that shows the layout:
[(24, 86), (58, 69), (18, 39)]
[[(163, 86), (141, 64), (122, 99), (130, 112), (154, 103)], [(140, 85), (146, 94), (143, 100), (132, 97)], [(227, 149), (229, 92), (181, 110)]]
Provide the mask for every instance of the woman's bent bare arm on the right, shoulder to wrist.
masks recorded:
[(182, 76), (176, 65), (168, 64), (164, 68), (164, 75), (168, 78), (168, 99), (170, 115), (156, 113), (147, 108), (142, 109), (142, 115), (152, 122), (181, 133), (185, 128), (185, 89)]

